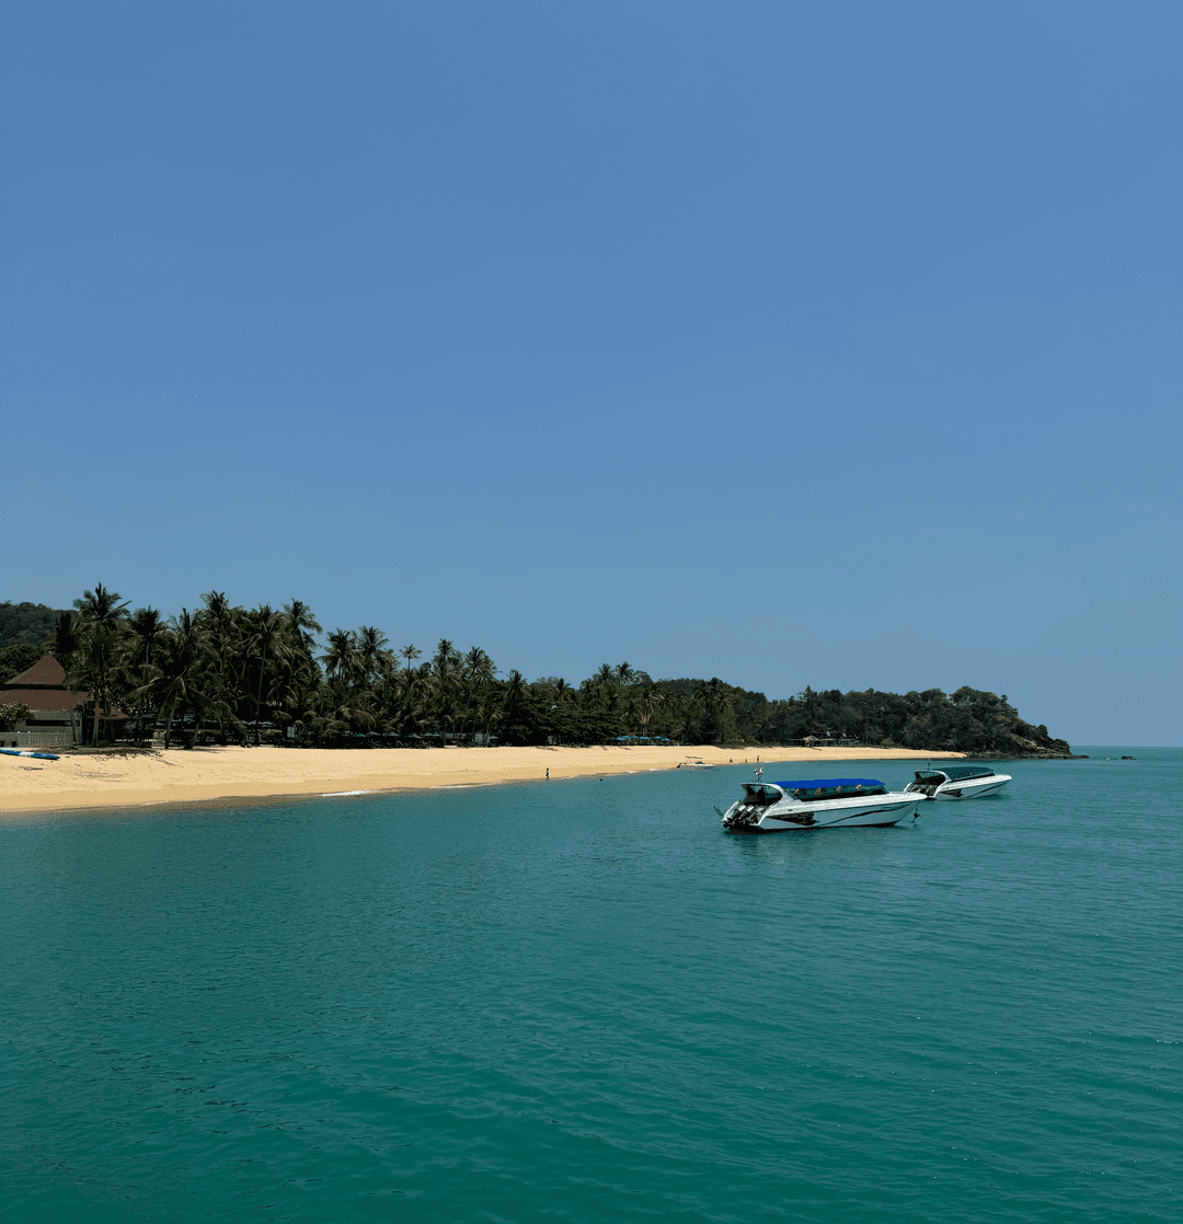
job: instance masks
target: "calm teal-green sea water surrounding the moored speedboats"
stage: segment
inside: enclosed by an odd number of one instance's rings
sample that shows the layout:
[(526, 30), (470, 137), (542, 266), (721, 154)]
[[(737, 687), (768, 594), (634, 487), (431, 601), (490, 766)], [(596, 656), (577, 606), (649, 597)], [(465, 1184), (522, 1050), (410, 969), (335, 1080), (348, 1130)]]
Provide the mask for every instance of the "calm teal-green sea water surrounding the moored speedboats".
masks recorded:
[(5, 823), (0, 1211), (1179, 1219), (1183, 750), (1078, 750), (885, 830), (726, 836), (748, 766)]

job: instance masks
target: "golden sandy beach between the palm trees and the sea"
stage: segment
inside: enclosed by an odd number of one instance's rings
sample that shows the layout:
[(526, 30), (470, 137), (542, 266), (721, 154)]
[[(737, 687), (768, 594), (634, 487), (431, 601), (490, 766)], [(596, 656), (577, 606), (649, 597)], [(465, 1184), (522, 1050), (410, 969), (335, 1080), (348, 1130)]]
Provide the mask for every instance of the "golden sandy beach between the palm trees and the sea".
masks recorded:
[[(349, 791), (430, 791), (457, 786), (610, 777), (676, 769), (688, 755), (718, 765), (756, 763), (757, 749), (637, 748), (375, 748), (358, 752), (285, 748), (170, 749), (137, 756), (62, 756), (56, 761), (0, 755), (0, 813), (228, 799), (263, 800)], [(958, 753), (887, 748), (759, 750), (778, 761), (930, 760)]]

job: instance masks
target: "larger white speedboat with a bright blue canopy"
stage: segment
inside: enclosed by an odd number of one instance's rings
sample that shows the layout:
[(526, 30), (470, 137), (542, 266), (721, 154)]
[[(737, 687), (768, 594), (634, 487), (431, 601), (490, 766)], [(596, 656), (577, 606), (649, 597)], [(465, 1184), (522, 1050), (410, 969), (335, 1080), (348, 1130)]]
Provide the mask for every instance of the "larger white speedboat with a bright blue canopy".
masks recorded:
[[(729, 834), (802, 832), (806, 829), (879, 829), (916, 815), (923, 798), (888, 791), (873, 777), (745, 782), (743, 796), (720, 813)], [(718, 809), (715, 809), (718, 810)]]

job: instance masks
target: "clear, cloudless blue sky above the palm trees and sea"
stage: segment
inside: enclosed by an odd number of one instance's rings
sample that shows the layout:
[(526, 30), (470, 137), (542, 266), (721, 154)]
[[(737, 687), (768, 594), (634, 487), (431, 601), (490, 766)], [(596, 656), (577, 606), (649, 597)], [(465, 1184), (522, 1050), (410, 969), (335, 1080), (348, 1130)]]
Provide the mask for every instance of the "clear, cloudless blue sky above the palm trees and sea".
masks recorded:
[(1183, 744), (1181, 33), (10, 5), (0, 597)]

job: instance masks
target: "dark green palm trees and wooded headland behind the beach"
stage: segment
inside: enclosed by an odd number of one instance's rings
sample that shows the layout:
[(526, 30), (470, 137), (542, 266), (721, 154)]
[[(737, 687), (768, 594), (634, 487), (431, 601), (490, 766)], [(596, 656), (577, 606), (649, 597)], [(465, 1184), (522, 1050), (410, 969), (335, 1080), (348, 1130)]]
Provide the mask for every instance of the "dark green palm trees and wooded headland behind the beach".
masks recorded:
[[(0, 730), (65, 726), (82, 743), (291, 747), (680, 743), (862, 747), (1070, 758), (1005, 695), (814, 692), (770, 700), (718, 677), (653, 679), (604, 663), (569, 684), (498, 672), (479, 646), (430, 657), (374, 625), (323, 635), (306, 603), (233, 605), (220, 591), (164, 617), (102, 585), (71, 610), (0, 603)], [(37, 665), (49, 655), (56, 671)], [(16, 683), (13, 683), (16, 682)], [(43, 694), (54, 694), (48, 700)], [(69, 694), (69, 696), (67, 696)], [(77, 698), (75, 701), (73, 698)], [(50, 710), (39, 710), (38, 700)], [(70, 706), (69, 711), (64, 707)]]

